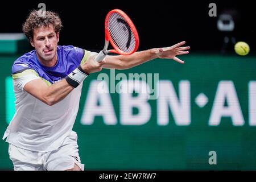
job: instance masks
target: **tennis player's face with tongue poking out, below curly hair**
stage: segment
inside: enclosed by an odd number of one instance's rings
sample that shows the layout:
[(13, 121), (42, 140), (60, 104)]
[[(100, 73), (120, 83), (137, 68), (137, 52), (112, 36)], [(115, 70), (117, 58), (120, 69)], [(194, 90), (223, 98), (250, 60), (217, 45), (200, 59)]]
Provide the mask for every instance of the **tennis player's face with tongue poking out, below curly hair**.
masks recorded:
[(56, 34), (52, 24), (49, 27), (35, 28), (31, 46), (35, 47), (36, 55), (43, 64), (57, 60), (57, 43), (59, 32)]

